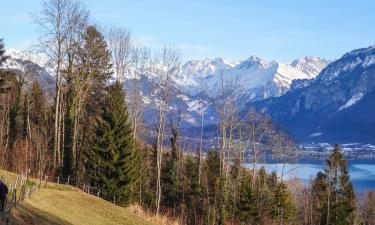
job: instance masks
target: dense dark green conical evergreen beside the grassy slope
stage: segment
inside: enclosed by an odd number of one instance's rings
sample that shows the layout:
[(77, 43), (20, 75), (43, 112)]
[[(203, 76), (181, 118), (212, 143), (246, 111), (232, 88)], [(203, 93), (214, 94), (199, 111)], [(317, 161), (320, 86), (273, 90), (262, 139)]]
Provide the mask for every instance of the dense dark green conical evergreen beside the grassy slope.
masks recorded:
[(122, 85), (116, 82), (109, 87), (96, 137), (87, 152), (91, 183), (101, 189), (106, 199), (129, 204), (139, 177), (137, 160), (125, 96)]

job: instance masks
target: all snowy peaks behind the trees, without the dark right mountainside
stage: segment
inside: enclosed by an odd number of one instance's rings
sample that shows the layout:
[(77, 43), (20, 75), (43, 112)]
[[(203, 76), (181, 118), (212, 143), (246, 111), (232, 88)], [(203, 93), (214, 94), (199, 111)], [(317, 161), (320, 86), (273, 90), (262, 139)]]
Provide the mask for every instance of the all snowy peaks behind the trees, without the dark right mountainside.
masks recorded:
[[(26, 81), (37, 80), (45, 90), (53, 93), (53, 72), (45, 66), (48, 61), (44, 55), (17, 50), (8, 50), (7, 54), (10, 59), (3, 68), (22, 71)], [(214, 102), (221, 84), (239, 92), (237, 102), (239, 107), (243, 107), (249, 101), (283, 95), (291, 88), (293, 81), (313, 79), (328, 63), (318, 57), (304, 57), (291, 63), (269, 62), (257, 56), (243, 61), (223, 58), (191, 60), (173, 76), (171, 108), (181, 109), (185, 128), (199, 126), (202, 111), (205, 124), (213, 125), (218, 119)], [(145, 121), (152, 122), (155, 113), (153, 104), (157, 104), (157, 93), (152, 87), (158, 84), (157, 76), (153, 73), (140, 74), (133, 69), (130, 71), (125, 89), (130, 90), (141, 83), (142, 100), (146, 105)]]

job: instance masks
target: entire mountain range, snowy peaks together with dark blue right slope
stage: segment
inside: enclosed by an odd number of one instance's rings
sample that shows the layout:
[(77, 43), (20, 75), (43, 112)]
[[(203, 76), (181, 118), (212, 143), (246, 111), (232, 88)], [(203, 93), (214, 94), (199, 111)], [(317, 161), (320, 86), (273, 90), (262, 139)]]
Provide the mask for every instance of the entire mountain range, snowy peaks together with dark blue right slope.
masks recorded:
[[(38, 80), (46, 90), (53, 90), (54, 78), (43, 56), (11, 50), (3, 65), (7, 69), (25, 70), (33, 64), (39, 72), (26, 80)], [(223, 58), (192, 60), (181, 66), (173, 78), (171, 107), (182, 109), (183, 129), (217, 122), (215, 98), (222, 84), (238, 92), (240, 111), (256, 107), (306, 142), (374, 142), (375, 137), (375, 50), (354, 50), (336, 61), (304, 57), (291, 63), (266, 61), (251, 56), (243, 61)], [(133, 71), (134, 72), (134, 71)], [(136, 71), (125, 83), (130, 88), (141, 82), (143, 101), (147, 105), (145, 121), (151, 123), (153, 93), (147, 87), (157, 79)], [(155, 96), (154, 96), (155, 97)], [(191, 132), (193, 135), (194, 132)]]

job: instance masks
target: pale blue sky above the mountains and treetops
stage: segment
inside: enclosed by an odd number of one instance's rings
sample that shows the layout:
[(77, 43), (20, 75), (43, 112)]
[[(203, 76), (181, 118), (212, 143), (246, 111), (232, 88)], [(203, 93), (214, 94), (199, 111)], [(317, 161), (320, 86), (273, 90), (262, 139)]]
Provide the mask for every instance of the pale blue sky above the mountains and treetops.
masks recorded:
[[(373, 0), (81, 0), (91, 21), (121, 26), (151, 48), (174, 44), (184, 60), (223, 57), (290, 62), (337, 59), (375, 44)], [(28, 49), (39, 31), (40, 0), (1, 3), (0, 38)]]

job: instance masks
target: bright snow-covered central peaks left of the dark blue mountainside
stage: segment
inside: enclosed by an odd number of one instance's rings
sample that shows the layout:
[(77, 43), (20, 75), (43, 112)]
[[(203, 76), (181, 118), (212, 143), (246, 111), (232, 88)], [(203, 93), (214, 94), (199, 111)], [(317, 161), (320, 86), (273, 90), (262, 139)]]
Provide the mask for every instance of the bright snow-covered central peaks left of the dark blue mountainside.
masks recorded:
[(293, 80), (313, 79), (328, 64), (318, 57), (304, 57), (292, 63), (268, 62), (257, 56), (243, 61), (194, 60), (182, 66), (176, 83), (189, 94), (206, 90), (211, 97), (224, 83), (235, 86), (241, 99), (255, 101), (283, 95)]

